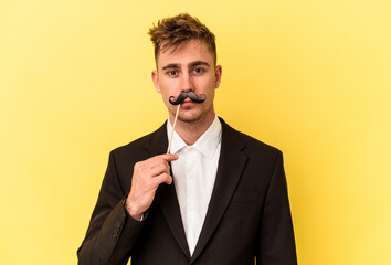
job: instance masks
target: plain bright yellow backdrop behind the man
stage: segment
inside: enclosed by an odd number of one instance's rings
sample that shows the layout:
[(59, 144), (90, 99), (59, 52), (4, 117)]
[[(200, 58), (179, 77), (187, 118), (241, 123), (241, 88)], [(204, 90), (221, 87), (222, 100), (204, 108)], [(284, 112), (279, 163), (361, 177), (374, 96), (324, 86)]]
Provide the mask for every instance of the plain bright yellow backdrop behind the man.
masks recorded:
[(167, 118), (146, 32), (183, 11), (218, 114), (284, 151), (299, 264), (391, 264), (389, 0), (0, 1), (0, 264), (76, 264), (108, 152)]

